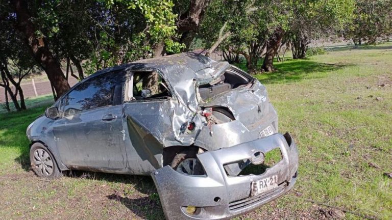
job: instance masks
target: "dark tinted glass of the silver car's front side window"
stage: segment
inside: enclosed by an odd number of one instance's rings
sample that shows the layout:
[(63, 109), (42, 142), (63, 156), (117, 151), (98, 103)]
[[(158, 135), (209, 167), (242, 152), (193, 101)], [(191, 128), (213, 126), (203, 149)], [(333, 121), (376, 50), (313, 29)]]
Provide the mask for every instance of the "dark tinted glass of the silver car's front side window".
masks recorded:
[(64, 116), (88, 109), (121, 104), (124, 72), (99, 75), (77, 86), (65, 97)]

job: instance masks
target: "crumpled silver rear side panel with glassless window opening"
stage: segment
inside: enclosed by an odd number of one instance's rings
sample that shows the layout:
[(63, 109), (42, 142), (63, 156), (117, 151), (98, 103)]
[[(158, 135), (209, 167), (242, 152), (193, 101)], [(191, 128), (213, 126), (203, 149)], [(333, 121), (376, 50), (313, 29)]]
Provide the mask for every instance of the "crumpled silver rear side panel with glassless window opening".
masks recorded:
[[(155, 169), (162, 167), (162, 140), (171, 132), (173, 113), (170, 108), (174, 103), (171, 93), (161, 87), (152, 92), (149, 97), (143, 97), (141, 90), (146, 89), (145, 78), (149, 78), (154, 72), (133, 72), (130, 76), (127, 91), (130, 100), (124, 103), (126, 120), (124, 129), (129, 137), (128, 157), (133, 174), (150, 174)], [(158, 78), (156, 84), (163, 81)], [(151, 84), (148, 84), (155, 87)], [(157, 86), (158, 87), (158, 86)], [(159, 87), (158, 87), (159, 88)], [(167, 109), (167, 112), (162, 112)]]

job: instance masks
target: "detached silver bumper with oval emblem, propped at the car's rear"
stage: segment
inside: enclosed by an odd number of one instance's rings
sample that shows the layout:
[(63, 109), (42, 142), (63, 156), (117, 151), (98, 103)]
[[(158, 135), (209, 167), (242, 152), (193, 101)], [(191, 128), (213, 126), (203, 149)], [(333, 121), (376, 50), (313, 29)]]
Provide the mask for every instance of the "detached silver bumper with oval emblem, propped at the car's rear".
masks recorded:
[[(266, 153), (280, 148), (283, 159), (261, 175), (229, 177), (224, 164), (251, 158), (254, 152)], [(176, 172), (169, 166), (152, 174), (166, 219), (228, 219), (250, 212), (289, 191), (297, 180), (298, 150), (287, 133), (230, 148), (198, 154), (206, 175), (191, 176)], [(251, 196), (251, 184), (277, 175), (278, 187), (258, 196)], [(187, 206), (197, 207), (193, 214)]]

